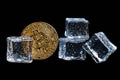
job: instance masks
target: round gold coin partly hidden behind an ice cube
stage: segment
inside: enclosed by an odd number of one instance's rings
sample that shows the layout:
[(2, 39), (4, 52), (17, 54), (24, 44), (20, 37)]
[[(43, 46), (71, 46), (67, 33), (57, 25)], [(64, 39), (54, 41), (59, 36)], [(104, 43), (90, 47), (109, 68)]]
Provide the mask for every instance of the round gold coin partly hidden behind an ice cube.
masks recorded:
[(49, 58), (57, 49), (58, 34), (50, 24), (46, 22), (33, 22), (21, 33), (22, 36), (32, 38), (32, 57), (36, 60)]

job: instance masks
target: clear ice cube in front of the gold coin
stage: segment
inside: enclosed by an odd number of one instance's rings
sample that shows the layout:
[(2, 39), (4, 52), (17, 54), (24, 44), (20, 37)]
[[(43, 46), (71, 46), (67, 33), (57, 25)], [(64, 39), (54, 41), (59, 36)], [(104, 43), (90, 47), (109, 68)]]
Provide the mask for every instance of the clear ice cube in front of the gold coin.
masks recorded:
[(7, 61), (32, 62), (32, 39), (30, 37), (7, 37)]

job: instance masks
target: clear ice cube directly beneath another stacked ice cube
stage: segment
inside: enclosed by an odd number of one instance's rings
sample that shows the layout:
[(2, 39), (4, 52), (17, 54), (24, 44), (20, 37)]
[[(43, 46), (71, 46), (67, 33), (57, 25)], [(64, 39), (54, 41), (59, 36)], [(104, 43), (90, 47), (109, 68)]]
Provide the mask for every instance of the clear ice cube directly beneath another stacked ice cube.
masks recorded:
[(78, 38), (60, 38), (58, 57), (64, 60), (85, 60), (83, 41)]

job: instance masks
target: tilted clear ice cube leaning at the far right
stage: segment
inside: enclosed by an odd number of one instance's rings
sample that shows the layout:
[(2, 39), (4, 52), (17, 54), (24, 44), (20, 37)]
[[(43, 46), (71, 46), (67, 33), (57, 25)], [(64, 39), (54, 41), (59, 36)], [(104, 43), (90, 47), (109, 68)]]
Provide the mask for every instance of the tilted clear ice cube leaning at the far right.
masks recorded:
[(83, 48), (92, 56), (96, 63), (104, 62), (117, 50), (103, 32), (95, 33), (92, 38), (83, 45)]

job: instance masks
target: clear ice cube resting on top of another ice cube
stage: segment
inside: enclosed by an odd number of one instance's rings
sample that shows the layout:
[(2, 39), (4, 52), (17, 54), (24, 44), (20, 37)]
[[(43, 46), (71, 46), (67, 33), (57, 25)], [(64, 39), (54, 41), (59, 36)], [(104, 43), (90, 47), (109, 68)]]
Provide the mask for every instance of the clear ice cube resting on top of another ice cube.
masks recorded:
[(85, 18), (66, 18), (66, 37), (76, 37), (87, 40), (89, 38), (88, 33), (88, 21)]

